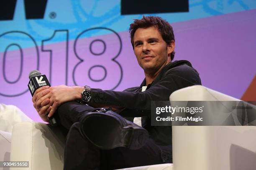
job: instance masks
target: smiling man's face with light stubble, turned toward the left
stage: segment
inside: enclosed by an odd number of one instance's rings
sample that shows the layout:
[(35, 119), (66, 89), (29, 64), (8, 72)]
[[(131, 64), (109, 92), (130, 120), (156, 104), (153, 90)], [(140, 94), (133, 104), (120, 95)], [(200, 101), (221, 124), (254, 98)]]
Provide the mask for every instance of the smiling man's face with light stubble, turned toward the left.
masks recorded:
[(154, 74), (170, 60), (174, 42), (166, 44), (157, 28), (138, 28), (133, 37), (134, 54), (144, 72)]

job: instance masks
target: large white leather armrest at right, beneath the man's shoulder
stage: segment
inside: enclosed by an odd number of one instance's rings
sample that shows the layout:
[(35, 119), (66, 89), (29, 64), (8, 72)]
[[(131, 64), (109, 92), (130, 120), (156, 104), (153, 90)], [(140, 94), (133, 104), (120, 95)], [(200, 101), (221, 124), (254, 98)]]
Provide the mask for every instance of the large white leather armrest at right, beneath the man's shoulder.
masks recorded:
[[(173, 92), (170, 101), (236, 101), (195, 85)], [(256, 169), (255, 126), (173, 126), (175, 170)]]

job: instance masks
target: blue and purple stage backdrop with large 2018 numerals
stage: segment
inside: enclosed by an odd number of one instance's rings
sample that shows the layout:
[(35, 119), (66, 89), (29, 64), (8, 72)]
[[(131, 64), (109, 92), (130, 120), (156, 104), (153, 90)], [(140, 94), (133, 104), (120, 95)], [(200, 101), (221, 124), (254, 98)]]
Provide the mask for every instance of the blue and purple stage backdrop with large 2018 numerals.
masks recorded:
[(255, 0), (10, 0), (0, 4), (0, 102), (41, 121), (28, 91), (40, 70), (51, 85), (124, 90), (144, 78), (129, 24), (160, 16), (174, 28), (174, 60), (202, 85), (241, 98), (256, 75)]

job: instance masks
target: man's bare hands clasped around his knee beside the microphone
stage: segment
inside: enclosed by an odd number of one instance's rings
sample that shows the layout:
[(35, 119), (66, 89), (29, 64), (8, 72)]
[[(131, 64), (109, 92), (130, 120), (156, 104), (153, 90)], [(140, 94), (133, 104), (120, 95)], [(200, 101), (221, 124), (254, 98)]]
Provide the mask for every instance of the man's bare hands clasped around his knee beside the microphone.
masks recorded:
[(36, 90), (32, 101), (39, 116), (46, 121), (47, 113), (49, 113), (48, 117), (51, 117), (62, 103), (80, 99), (83, 90), (84, 87), (79, 86), (44, 86)]

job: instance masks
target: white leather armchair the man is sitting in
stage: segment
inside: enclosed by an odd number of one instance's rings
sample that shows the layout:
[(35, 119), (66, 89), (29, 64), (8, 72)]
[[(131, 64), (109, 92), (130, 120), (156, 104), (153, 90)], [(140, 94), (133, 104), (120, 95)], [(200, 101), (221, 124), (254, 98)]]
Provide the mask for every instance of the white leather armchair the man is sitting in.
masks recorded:
[[(172, 93), (170, 100), (238, 100), (195, 85)], [(127, 170), (255, 170), (256, 127), (174, 126), (173, 164), (125, 168)], [(50, 125), (22, 122), (13, 127), (12, 161), (29, 161), (22, 170), (62, 170), (64, 136)], [(18, 170), (18, 168), (10, 168)]]

